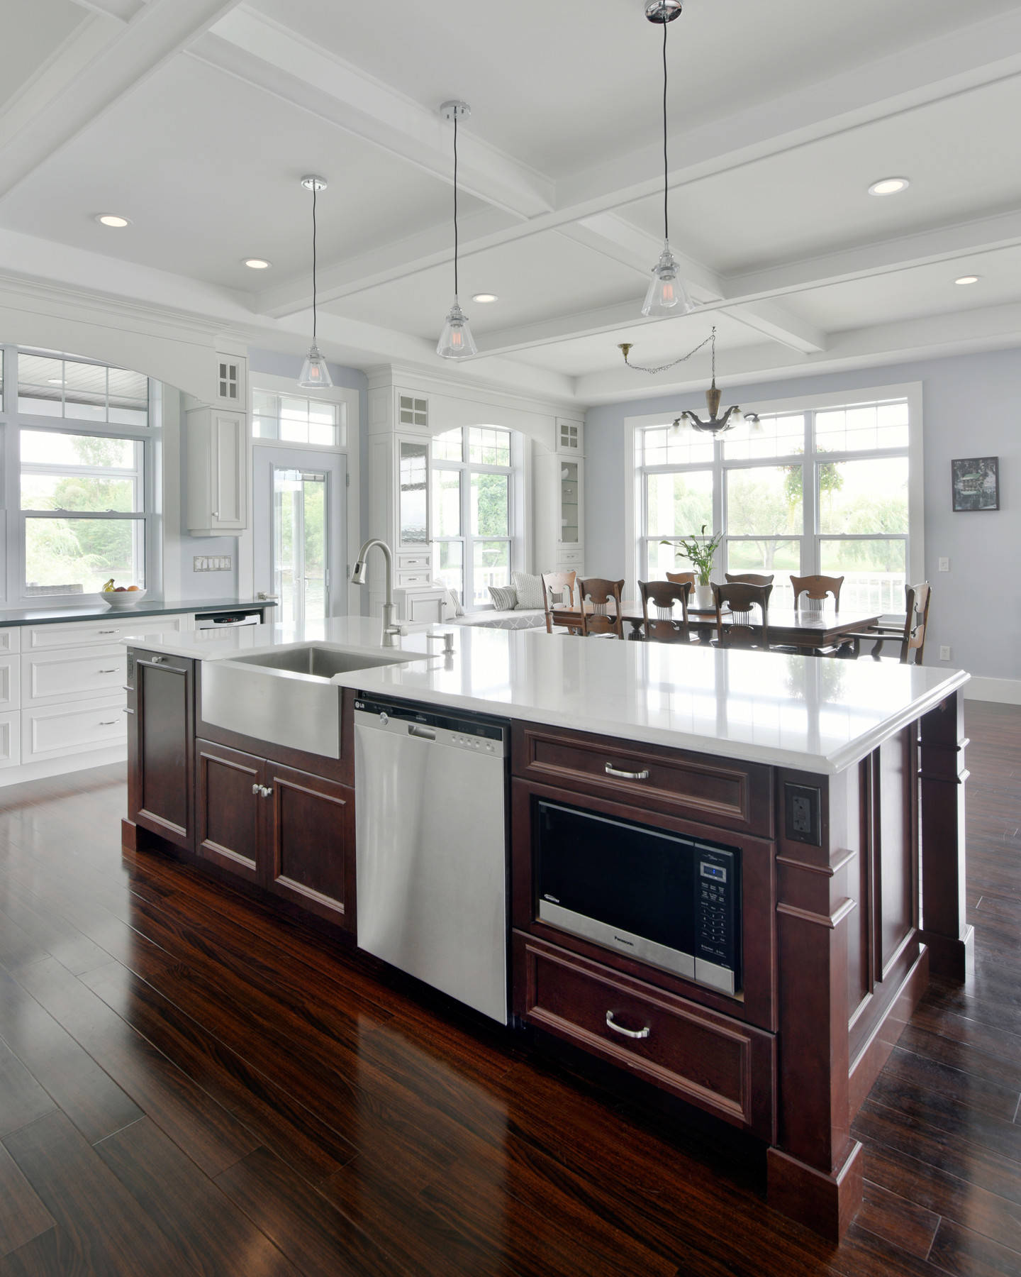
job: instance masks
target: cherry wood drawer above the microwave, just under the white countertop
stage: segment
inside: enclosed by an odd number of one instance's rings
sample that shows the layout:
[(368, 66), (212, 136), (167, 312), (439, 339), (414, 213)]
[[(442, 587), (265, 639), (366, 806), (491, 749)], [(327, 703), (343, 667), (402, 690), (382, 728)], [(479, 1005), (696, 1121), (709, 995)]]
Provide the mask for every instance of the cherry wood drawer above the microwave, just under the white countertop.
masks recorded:
[(516, 723), (513, 771), (667, 815), (771, 835), (770, 769), (613, 737)]

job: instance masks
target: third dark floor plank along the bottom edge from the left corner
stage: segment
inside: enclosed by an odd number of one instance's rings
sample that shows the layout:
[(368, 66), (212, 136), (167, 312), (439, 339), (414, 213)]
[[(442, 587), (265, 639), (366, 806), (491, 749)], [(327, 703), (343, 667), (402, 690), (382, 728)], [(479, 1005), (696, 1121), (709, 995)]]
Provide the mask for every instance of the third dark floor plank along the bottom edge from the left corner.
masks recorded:
[(297, 1277), (269, 1237), (148, 1117), (96, 1144), (96, 1152), (202, 1277), (236, 1277), (239, 1263), (259, 1277)]

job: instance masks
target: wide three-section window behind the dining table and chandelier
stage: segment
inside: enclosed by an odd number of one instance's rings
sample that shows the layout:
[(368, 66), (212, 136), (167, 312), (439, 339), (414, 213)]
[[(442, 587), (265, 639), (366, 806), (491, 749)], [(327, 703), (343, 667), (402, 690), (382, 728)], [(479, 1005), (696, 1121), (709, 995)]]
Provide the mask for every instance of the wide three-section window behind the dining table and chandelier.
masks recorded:
[[(773, 576), (791, 607), (791, 573), (842, 576), (841, 605), (904, 610), (920, 571), (920, 435), (913, 396), (763, 412), (762, 430), (713, 439), (669, 424), (636, 429), (637, 572), (688, 571), (680, 538), (722, 530), (713, 580)], [(913, 495), (914, 492), (914, 495)], [(667, 544), (662, 544), (666, 541)]]

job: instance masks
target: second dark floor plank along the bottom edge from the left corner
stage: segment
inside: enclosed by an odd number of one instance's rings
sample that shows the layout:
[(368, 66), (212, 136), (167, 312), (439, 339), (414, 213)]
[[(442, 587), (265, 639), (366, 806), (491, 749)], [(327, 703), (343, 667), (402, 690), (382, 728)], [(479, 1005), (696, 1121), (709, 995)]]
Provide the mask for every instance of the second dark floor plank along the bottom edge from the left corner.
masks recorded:
[(184, 1255), (63, 1114), (40, 1117), (8, 1135), (4, 1144), (77, 1263), (91, 1264), (79, 1271), (103, 1277), (191, 1273)]

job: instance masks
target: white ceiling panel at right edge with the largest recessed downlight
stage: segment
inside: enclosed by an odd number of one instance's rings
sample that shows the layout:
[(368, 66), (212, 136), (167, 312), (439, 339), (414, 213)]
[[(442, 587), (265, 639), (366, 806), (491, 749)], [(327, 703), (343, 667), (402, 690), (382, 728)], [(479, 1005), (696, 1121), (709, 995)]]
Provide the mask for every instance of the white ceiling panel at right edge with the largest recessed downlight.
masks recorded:
[[(1018, 117), (1015, 77), (694, 181), (671, 193), (671, 241), (738, 272), (1017, 207)], [(890, 176), (911, 185), (868, 194)], [(662, 234), (661, 197), (622, 216)]]

